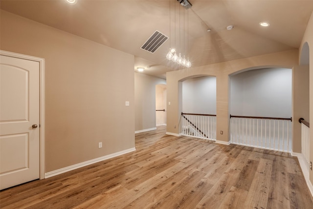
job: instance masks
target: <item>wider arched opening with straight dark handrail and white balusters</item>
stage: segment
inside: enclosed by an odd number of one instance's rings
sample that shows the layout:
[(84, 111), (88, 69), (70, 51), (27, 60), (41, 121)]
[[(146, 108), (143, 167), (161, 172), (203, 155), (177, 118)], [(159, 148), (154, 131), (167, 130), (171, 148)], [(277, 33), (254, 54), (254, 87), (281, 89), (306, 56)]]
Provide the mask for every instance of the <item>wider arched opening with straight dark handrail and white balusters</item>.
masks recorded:
[(231, 143), (291, 152), (291, 69), (231, 74), (229, 95)]

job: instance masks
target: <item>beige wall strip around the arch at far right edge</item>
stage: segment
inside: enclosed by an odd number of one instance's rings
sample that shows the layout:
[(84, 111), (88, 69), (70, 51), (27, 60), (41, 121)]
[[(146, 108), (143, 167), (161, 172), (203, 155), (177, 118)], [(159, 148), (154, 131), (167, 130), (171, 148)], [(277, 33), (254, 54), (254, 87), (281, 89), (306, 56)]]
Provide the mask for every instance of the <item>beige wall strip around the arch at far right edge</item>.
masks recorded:
[[(309, 51), (310, 51), (310, 122), (313, 121), (313, 13), (311, 15), (311, 18), (308, 22), (308, 26), (306, 28), (306, 31), (304, 33), (301, 47), (299, 51), (302, 51), (302, 47), (305, 43), (308, 43), (309, 45)], [(299, 55), (301, 57), (301, 54)], [(312, 126), (312, 125), (311, 125)], [(310, 128), (310, 161), (313, 162), (313, 128)], [(313, 171), (310, 170), (310, 181), (311, 184), (313, 183)]]

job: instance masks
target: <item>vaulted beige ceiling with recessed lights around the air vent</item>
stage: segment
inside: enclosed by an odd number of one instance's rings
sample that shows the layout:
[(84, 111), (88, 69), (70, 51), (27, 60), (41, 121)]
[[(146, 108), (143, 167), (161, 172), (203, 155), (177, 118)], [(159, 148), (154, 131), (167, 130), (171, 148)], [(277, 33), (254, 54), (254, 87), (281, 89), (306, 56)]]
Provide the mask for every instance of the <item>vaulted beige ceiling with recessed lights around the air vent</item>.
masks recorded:
[[(192, 67), (299, 48), (313, 11), (313, 0), (190, 2), (192, 8), (185, 10), (177, 0), (78, 0), (74, 5), (1, 0), (0, 8), (134, 54), (134, 70), (144, 67), (145, 74), (163, 78), (166, 71), (182, 68), (165, 58), (169, 47), (180, 47)], [(262, 21), (270, 26), (260, 26)], [(234, 28), (226, 30), (228, 25)], [(156, 30), (170, 39), (155, 53), (141, 49)]]

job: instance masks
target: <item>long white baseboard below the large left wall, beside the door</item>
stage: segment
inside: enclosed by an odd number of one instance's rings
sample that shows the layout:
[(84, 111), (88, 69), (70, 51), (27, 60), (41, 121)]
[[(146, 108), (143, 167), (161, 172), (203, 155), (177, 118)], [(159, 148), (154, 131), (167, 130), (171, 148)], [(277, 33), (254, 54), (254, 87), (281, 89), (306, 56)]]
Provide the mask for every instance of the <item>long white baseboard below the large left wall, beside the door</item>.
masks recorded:
[(133, 147), (133, 148), (126, 149), (126, 150), (119, 151), (119, 152), (115, 152), (115, 153), (112, 153), (110, 155), (106, 155), (106, 156), (103, 156), (103, 157), (100, 157), (100, 158), (96, 158), (96, 159), (93, 159), (93, 160), (90, 160), (90, 161), (85, 161), (83, 163), (77, 163), (77, 164), (70, 165), (70, 166), (67, 166), (67, 167), (64, 167), (64, 168), (61, 168), (61, 169), (58, 169), (58, 170), (53, 170), (53, 171), (45, 173), (45, 178), (50, 178), (52, 176), (56, 176), (56, 175), (59, 175), (59, 174), (62, 174), (62, 173), (65, 173), (65, 172), (68, 172), (68, 171), (71, 171), (71, 170), (74, 170), (74, 169), (77, 169), (77, 168), (81, 168), (81, 167), (84, 167), (86, 165), (90, 165), (90, 164), (93, 164), (93, 163), (98, 163), (100, 161), (108, 160), (110, 158), (114, 158), (114, 157), (117, 157), (117, 156), (120, 156), (120, 155), (124, 155), (126, 153), (133, 152), (135, 150), (136, 150), (136, 148)]

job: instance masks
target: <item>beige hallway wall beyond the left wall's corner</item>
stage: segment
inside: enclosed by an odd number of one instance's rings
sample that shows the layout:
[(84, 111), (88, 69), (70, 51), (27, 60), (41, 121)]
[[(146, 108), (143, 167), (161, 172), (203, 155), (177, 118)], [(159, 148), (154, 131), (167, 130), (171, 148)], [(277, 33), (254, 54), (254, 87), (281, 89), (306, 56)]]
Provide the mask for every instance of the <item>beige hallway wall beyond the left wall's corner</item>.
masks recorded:
[(134, 73), (135, 131), (156, 128), (156, 85), (166, 80), (142, 73)]

